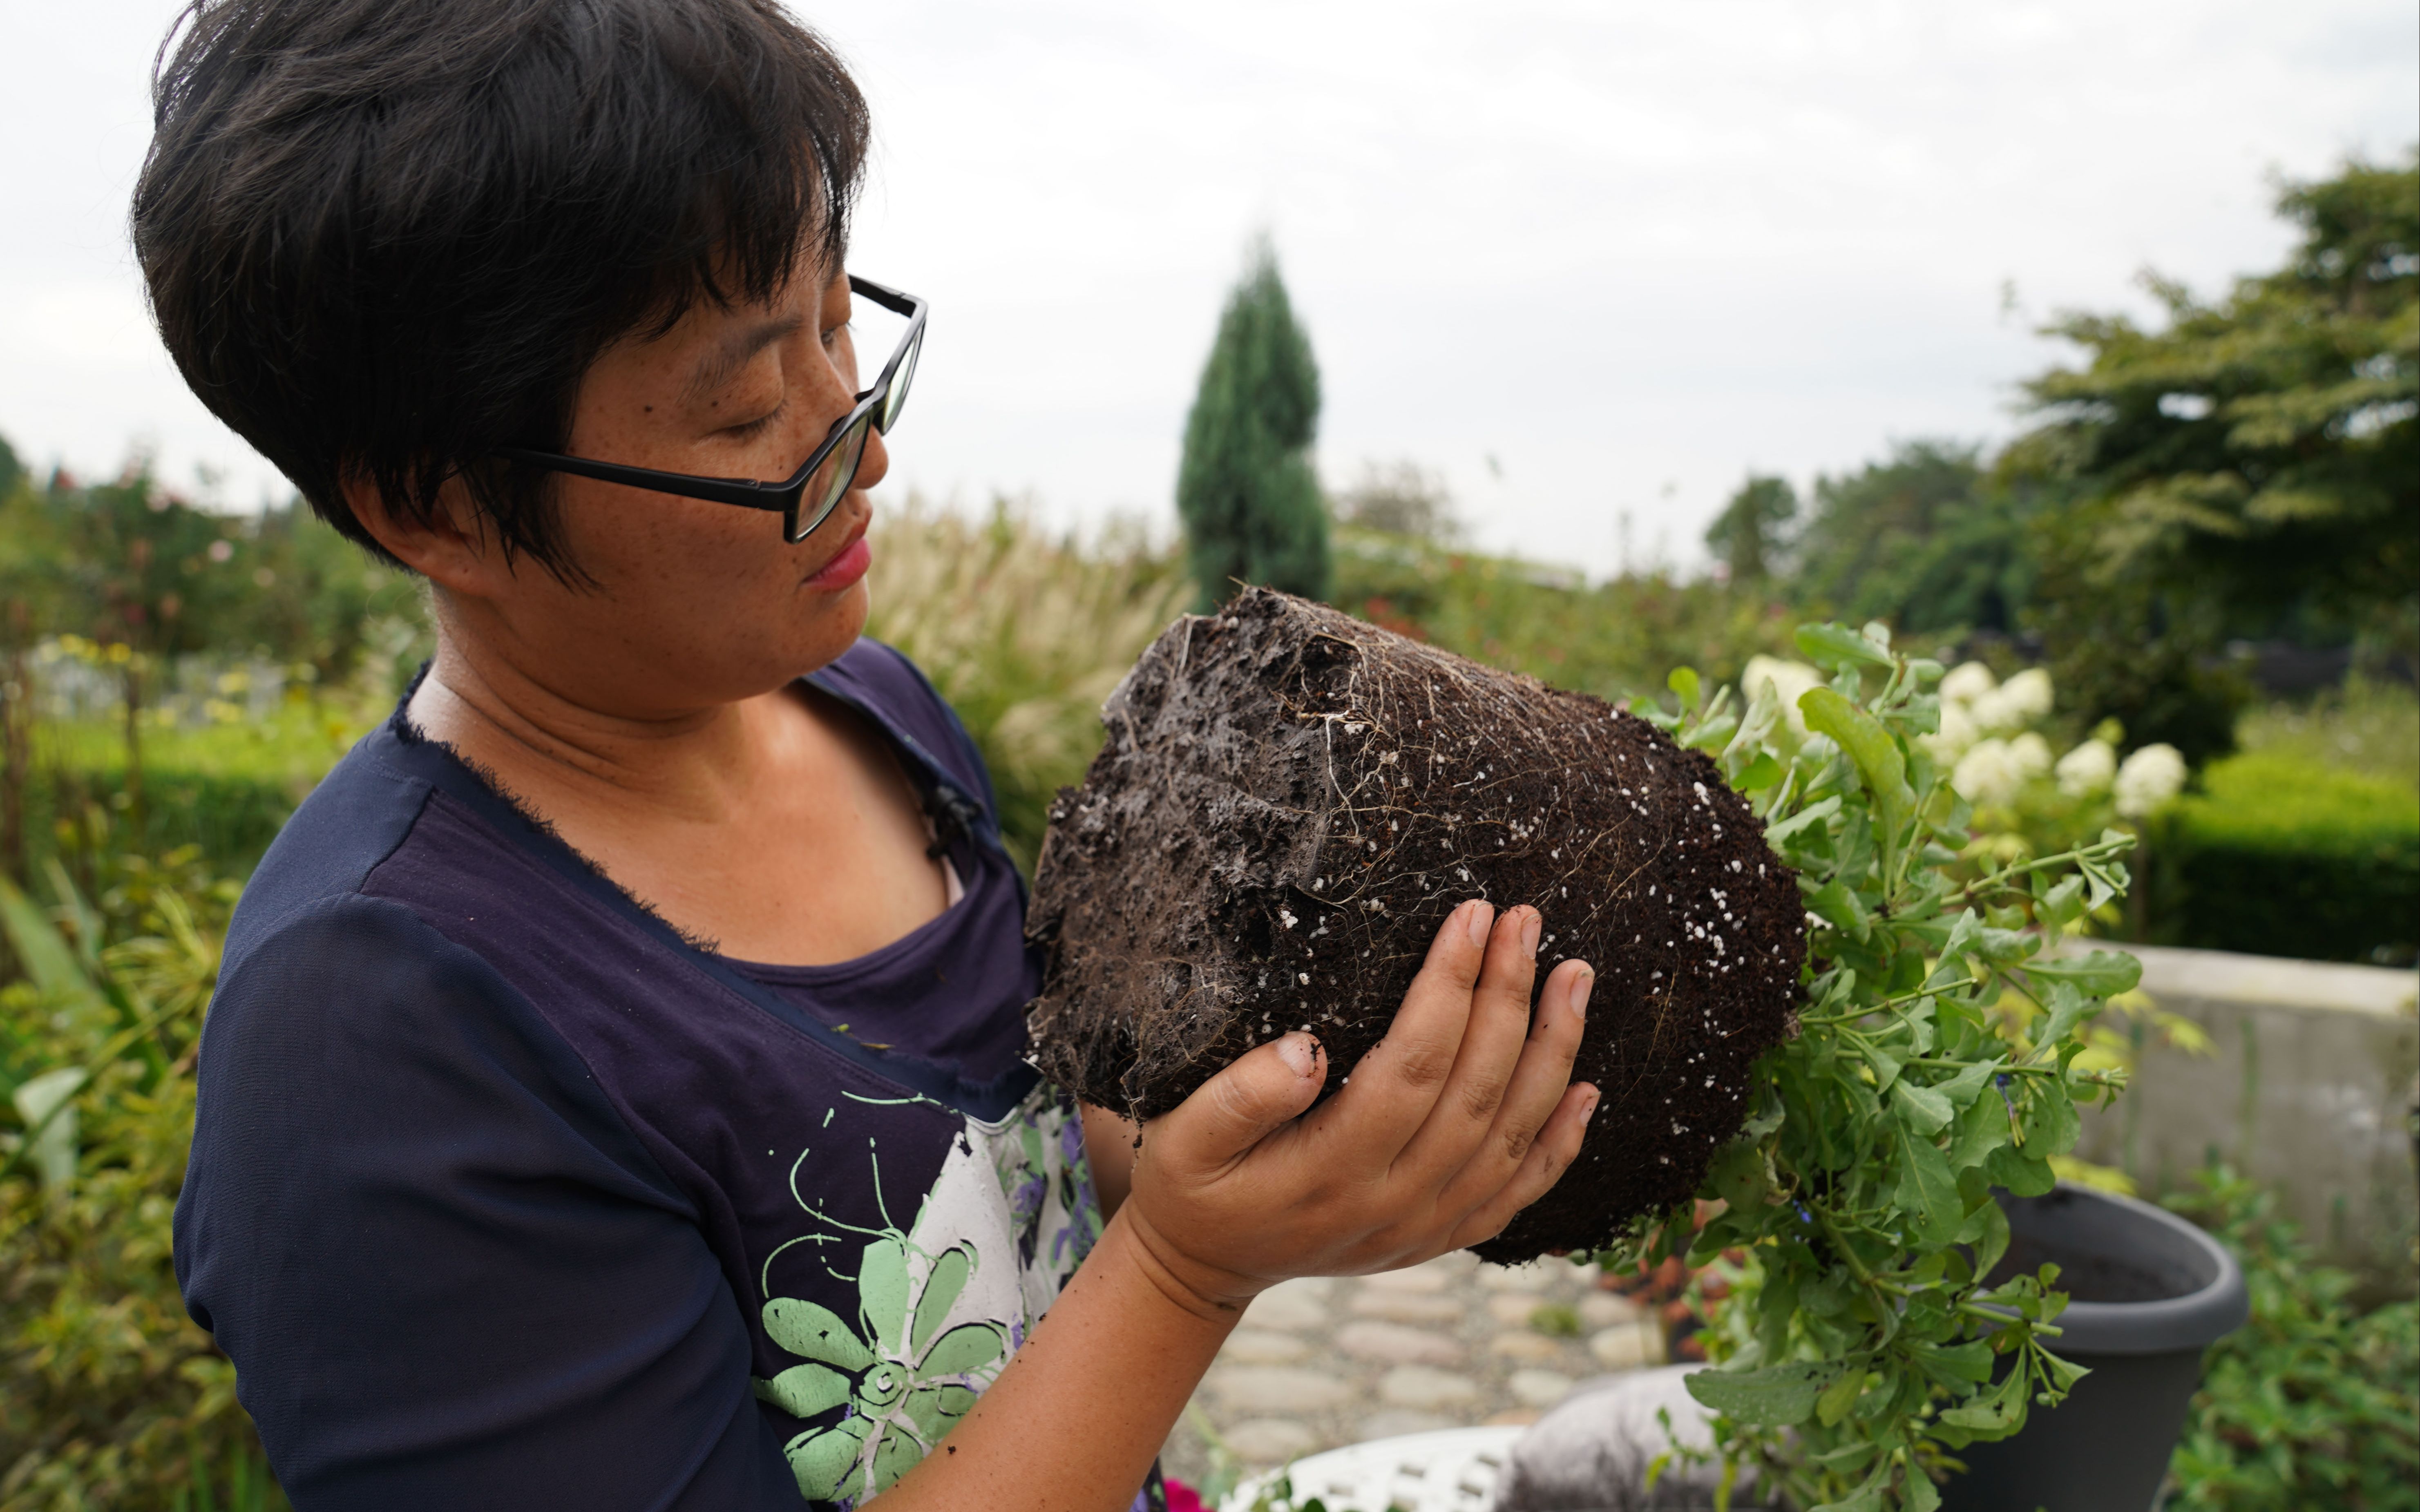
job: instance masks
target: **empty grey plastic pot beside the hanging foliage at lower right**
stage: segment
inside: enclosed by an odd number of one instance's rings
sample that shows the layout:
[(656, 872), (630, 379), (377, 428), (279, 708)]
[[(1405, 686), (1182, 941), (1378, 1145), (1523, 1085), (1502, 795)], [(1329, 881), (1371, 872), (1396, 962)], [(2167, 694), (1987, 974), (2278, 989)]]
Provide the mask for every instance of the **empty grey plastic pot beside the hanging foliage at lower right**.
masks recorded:
[(2251, 1316), (2243, 1270), (2185, 1219), (2079, 1185), (2042, 1198), (2001, 1195), (2001, 1272), (2057, 1260), (2074, 1297), (2052, 1352), (2093, 1374), (2026, 1430), (1970, 1444), (1967, 1473), (1941, 1488), (1946, 1512), (2151, 1512), (2185, 1408), (2202, 1384), (2202, 1350)]

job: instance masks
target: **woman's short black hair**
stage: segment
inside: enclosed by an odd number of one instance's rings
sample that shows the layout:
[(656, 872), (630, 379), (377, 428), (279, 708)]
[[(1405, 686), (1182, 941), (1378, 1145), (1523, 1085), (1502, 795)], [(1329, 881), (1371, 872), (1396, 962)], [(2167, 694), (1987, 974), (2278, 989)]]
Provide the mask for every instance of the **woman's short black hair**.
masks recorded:
[(336, 530), (465, 479), (578, 576), (552, 474), (590, 363), (699, 298), (837, 271), (866, 102), (772, 0), (196, 0), (133, 196), (152, 314), (203, 404)]

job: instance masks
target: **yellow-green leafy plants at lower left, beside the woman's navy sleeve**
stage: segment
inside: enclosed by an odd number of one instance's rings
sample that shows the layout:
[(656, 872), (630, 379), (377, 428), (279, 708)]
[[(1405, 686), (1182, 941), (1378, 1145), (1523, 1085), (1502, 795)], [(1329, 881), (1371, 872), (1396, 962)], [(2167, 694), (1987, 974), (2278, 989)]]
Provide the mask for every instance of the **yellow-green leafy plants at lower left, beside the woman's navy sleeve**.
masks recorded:
[(283, 1507), (169, 1265), (235, 888), (189, 852), (104, 881), (53, 868), (56, 910), (0, 881), (0, 1512)]

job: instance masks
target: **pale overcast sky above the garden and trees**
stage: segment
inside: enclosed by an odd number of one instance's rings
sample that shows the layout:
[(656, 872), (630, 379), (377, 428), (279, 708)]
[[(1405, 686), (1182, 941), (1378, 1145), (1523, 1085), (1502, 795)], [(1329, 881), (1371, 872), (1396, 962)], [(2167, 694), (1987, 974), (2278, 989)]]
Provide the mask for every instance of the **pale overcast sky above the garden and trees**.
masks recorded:
[[(126, 252), (174, 0), (0, 17), (0, 435), (220, 498), (286, 484), (179, 385)], [(1474, 535), (1595, 571), (1747, 469), (2001, 438), (2059, 307), (2217, 290), (2275, 174), (2398, 155), (2410, 0), (847, 0), (874, 102), (857, 271), (932, 300), (893, 479), (1171, 523), (1225, 288), (1275, 240), (1319, 464), (1450, 479)], [(2013, 307), (2004, 290), (2013, 288)], [(1493, 462), (1491, 462), (1493, 460)], [(886, 489), (893, 491), (893, 489)]]

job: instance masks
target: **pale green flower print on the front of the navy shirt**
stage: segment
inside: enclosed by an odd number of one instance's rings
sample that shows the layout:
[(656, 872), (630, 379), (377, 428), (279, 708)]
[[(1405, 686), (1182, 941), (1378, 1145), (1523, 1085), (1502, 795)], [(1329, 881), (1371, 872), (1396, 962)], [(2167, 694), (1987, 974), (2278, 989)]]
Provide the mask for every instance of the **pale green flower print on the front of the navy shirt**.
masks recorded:
[(757, 1379), (755, 1393), (794, 1418), (849, 1406), (842, 1422), (784, 1447), (811, 1502), (859, 1502), (888, 1490), (975, 1406), (978, 1372), (1009, 1350), (997, 1323), (941, 1331), (973, 1272), (973, 1246), (956, 1243), (934, 1258), (910, 1299), (908, 1243), (893, 1231), (866, 1246), (857, 1270), (862, 1335), (799, 1297), (765, 1304), (765, 1335), (808, 1364)]

